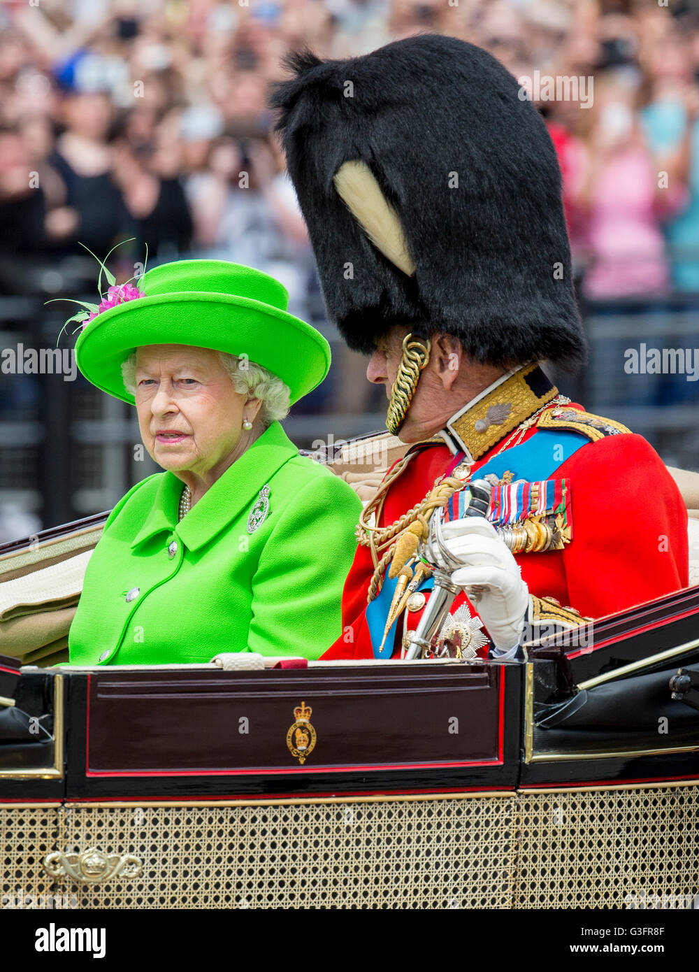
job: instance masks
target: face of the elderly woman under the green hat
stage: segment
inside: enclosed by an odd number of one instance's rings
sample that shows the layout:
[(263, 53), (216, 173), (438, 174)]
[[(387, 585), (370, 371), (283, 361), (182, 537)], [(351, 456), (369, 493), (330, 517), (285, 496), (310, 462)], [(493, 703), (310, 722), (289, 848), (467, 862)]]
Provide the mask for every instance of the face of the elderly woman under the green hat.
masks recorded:
[(253, 421), (259, 407), (235, 391), (215, 351), (182, 344), (138, 348), (135, 398), (143, 443), (158, 466), (201, 476), (243, 451), (243, 419)]

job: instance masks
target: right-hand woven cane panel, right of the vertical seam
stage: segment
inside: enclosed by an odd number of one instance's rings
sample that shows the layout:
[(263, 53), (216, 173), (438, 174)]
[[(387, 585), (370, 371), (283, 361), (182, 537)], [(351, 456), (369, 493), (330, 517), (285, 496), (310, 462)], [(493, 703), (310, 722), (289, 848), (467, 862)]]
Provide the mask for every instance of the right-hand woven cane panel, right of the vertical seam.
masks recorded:
[(513, 906), (688, 907), (698, 810), (697, 785), (521, 794)]

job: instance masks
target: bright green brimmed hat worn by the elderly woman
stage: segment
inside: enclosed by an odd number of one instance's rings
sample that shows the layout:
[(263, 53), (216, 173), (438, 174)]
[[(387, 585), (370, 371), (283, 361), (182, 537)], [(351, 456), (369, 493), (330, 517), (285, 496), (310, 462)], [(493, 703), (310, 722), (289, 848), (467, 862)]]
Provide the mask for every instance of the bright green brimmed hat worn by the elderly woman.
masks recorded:
[(134, 404), (122, 363), (146, 344), (247, 355), (289, 386), (292, 403), (328, 374), (328, 341), (287, 313), (286, 289), (260, 270), (227, 260), (176, 260), (145, 273), (139, 289), (143, 296), (89, 321), (75, 346), (87, 381), (116, 399)]

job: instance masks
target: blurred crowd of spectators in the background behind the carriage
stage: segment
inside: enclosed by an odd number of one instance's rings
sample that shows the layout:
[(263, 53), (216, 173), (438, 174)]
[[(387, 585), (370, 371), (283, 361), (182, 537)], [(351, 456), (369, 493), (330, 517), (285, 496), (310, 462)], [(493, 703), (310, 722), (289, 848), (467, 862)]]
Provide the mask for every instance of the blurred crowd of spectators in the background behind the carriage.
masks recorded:
[(690, 3), (42, 0), (0, 17), (0, 293), (31, 288), (34, 263), (75, 258), (79, 243), (101, 258), (134, 237), (124, 266), (146, 245), (150, 260), (250, 263), (312, 316), (313, 258), (268, 87), (290, 50), (345, 57), (426, 30), (494, 53), (537, 100), (581, 295), (699, 291)]

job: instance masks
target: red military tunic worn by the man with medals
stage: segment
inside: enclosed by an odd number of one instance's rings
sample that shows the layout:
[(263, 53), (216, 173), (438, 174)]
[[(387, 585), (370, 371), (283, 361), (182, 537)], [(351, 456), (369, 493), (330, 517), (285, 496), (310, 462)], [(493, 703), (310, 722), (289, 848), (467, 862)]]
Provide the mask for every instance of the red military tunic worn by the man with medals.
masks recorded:
[[(566, 407), (585, 414), (581, 405)], [(539, 432), (540, 427), (534, 426), (520, 442)], [(473, 479), (502, 450), (503, 439), (507, 435), (477, 459)], [(378, 526), (393, 523), (419, 503), (458, 458), (446, 444), (416, 448), (419, 454), (387, 493)], [(645, 438), (624, 433), (589, 440), (555, 475), (570, 482), (573, 538), (561, 550), (514, 555), (530, 594), (555, 598), (582, 615), (599, 618), (687, 585), (686, 508), (675, 480)], [(366, 617), (372, 573), (370, 551), (359, 546), (344, 586), (343, 635), (324, 659), (373, 657)], [(463, 593), (457, 596), (452, 613), (465, 602), (475, 615)], [(421, 615), (422, 610), (408, 611), (407, 628), (416, 628)], [(401, 644), (399, 620), (393, 657), (400, 654)]]

